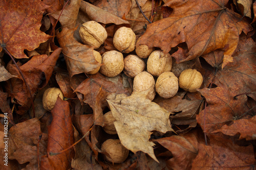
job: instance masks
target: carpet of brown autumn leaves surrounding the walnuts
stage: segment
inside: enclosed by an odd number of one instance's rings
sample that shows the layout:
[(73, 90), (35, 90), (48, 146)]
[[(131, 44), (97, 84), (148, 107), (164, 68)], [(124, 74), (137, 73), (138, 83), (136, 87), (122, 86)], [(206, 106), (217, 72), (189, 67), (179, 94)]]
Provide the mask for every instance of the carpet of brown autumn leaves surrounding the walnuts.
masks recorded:
[[(254, 1), (3, 0), (0, 11), (1, 169), (256, 168)], [(78, 34), (90, 20), (108, 33), (101, 55), (129, 27), (137, 45), (172, 56), (177, 77), (197, 69), (203, 84), (151, 101), (123, 72), (88, 74), (101, 66)], [(49, 87), (65, 96), (52, 111)], [(117, 134), (102, 128), (110, 110)], [(129, 150), (123, 163), (104, 159), (107, 139)]]

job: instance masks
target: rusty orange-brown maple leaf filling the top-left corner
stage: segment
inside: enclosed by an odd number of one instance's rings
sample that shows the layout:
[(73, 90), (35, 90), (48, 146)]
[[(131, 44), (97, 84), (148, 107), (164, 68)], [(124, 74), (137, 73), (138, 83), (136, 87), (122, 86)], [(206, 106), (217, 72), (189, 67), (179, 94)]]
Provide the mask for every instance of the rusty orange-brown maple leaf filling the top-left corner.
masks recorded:
[(40, 31), (42, 14), (49, 6), (40, 0), (0, 2), (0, 52), (5, 47), (15, 58), (28, 58), (50, 36)]

